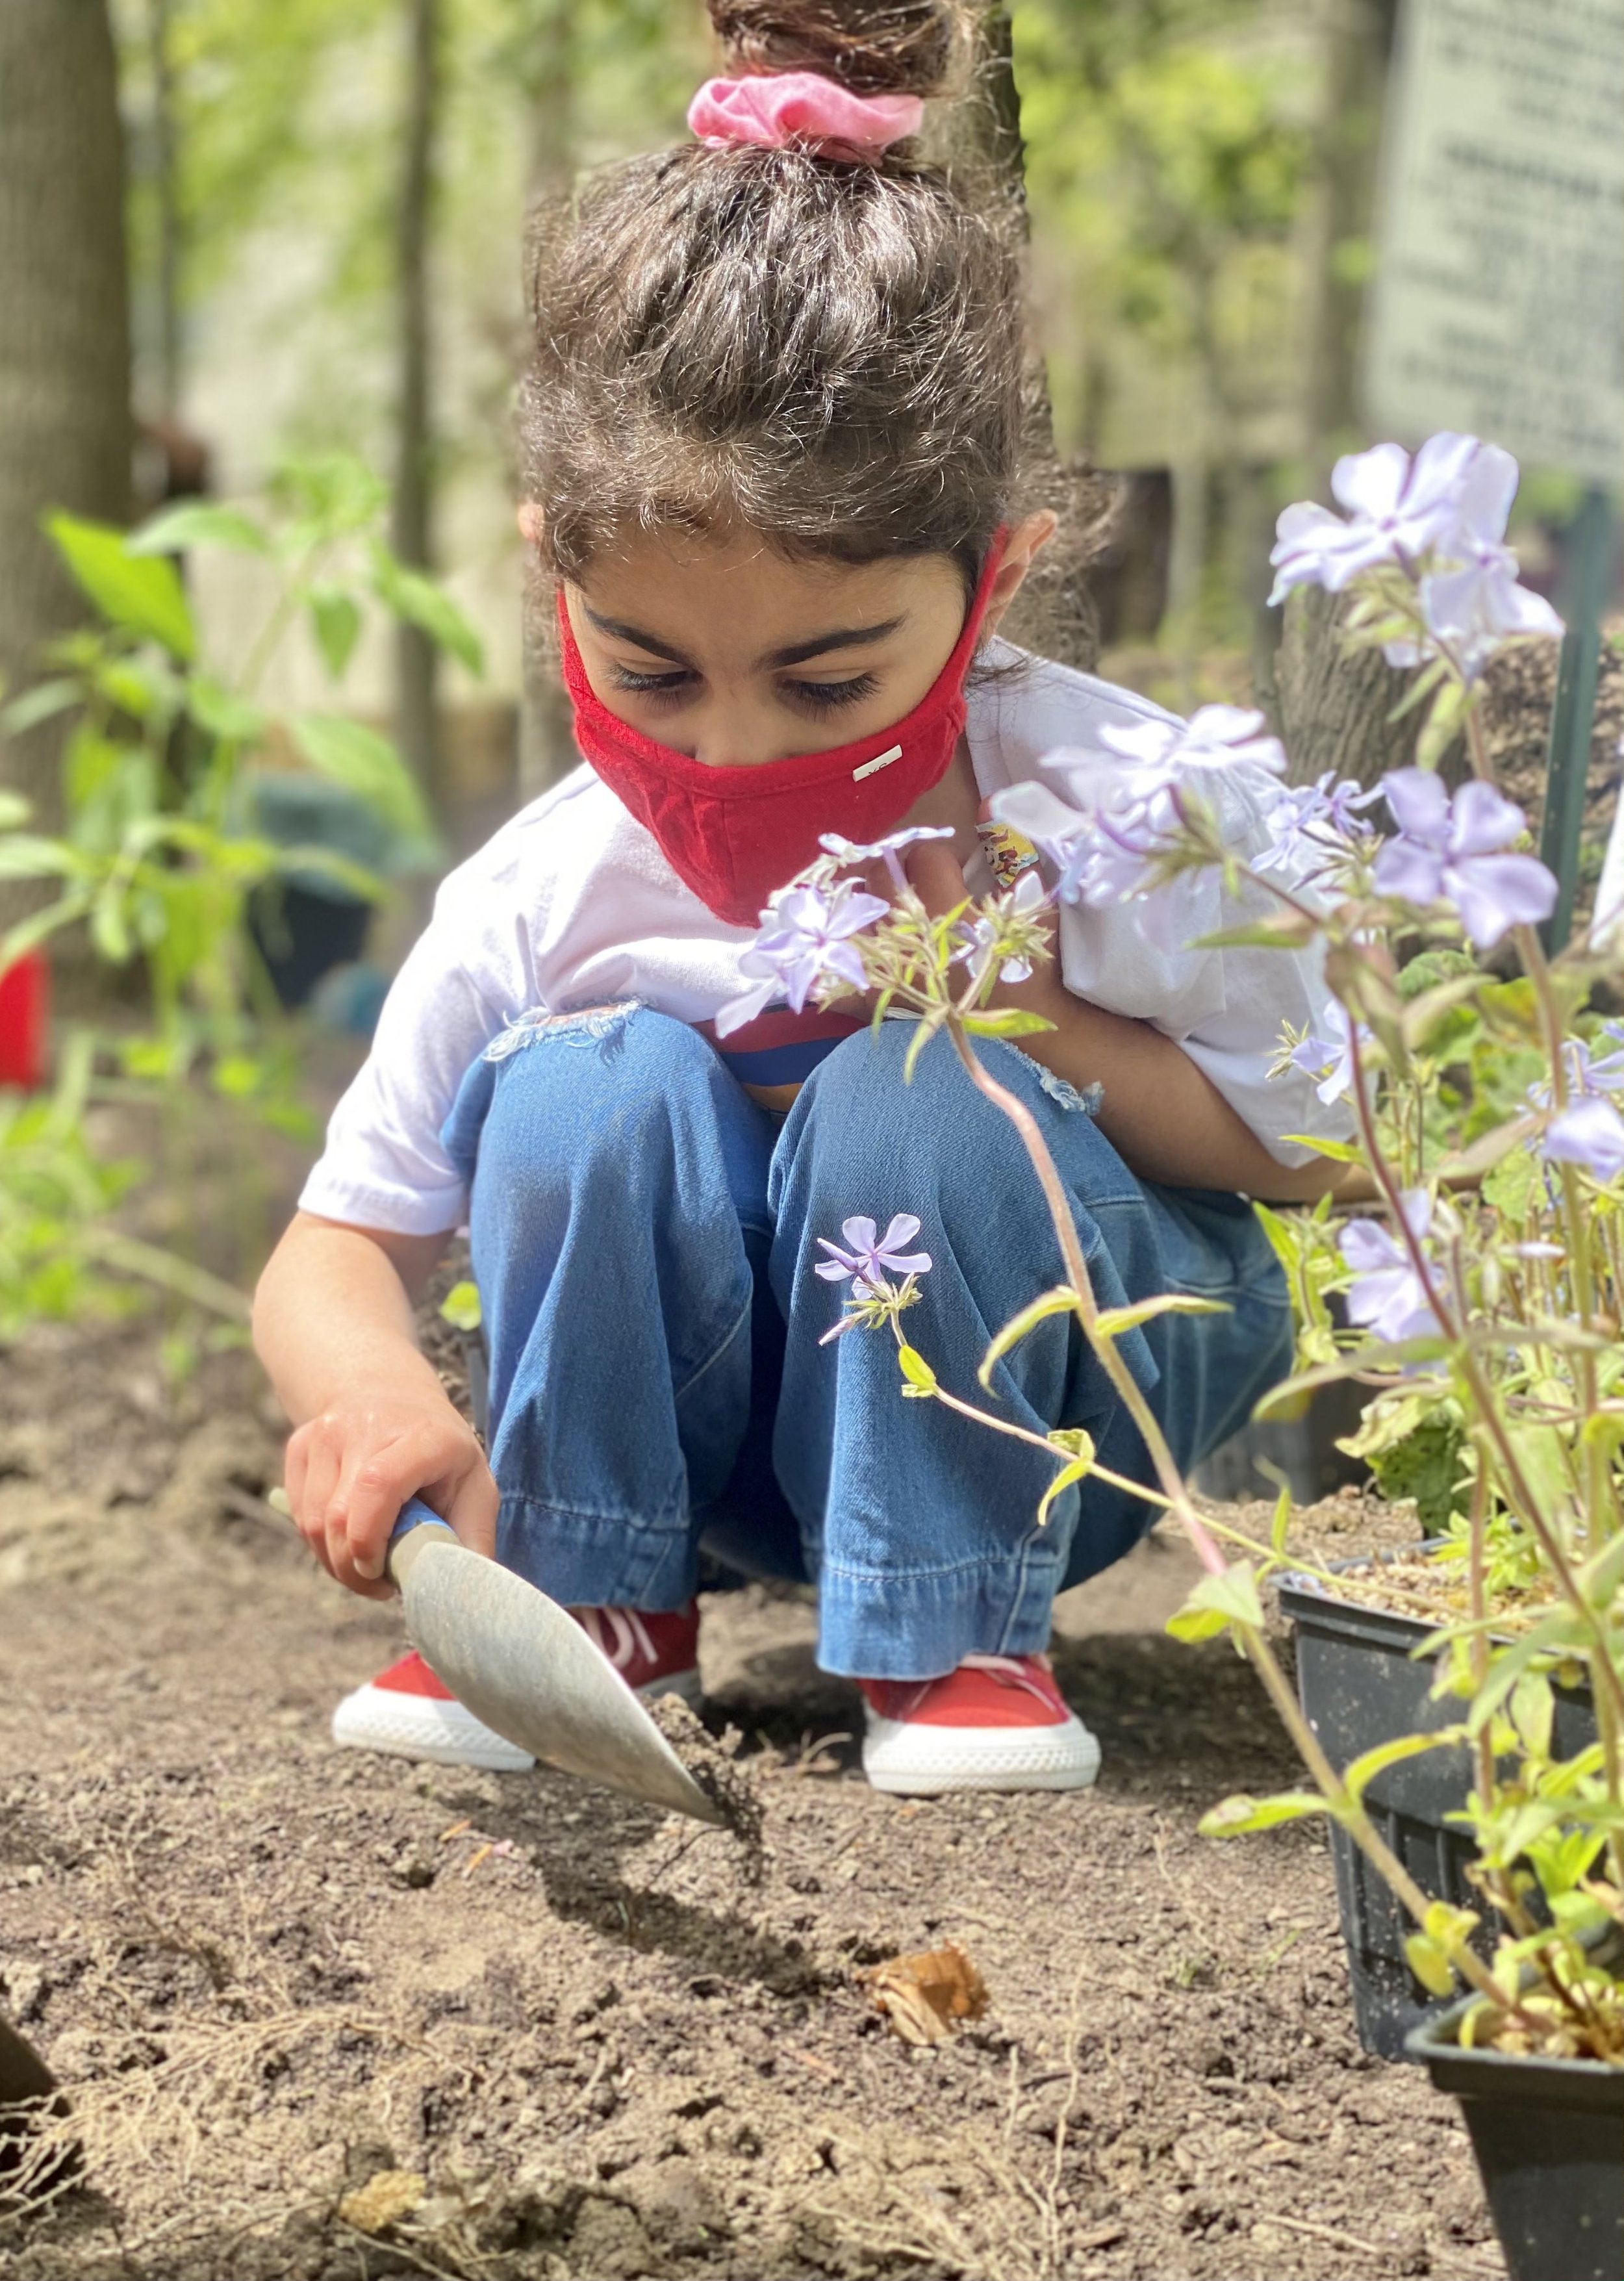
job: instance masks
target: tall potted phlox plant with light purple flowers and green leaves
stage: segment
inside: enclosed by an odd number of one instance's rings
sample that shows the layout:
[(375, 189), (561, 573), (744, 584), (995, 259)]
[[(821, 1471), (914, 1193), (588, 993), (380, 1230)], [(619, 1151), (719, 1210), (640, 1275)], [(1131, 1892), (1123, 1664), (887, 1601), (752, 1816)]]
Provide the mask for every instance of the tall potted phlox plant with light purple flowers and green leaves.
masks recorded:
[[(1421, 1982), (1476, 1991), (1462, 2041), (1624, 2064), (1624, 1991), (1608, 1969), (1624, 1934), (1624, 1029), (1590, 1010), (1617, 988), (1619, 958), (1588, 935), (1546, 956), (1537, 928), (1556, 878), (1528, 853), (1483, 737), (1487, 659), (1505, 641), (1560, 632), (1503, 543), (1515, 488), (1508, 452), (1435, 436), (1414, 456), (1378, 445), (1343, 458), (1332, 481), (1343, 513), (1302, 504), (1280, 518), (1275, 598), (1307, 584), (1346, 593), (1348, 648), (1419, 668), (1398, 707), (1419, 723), (1414, 766), (1371, 792), (1332, 778), (1289, 787), (1264, 716), (1227, 705), (1184, 725), (1104, 730), (1099, 750), (1045, 762), (1065, 798), (1022, 785), (994, 801), (1045, 858), (1042, 876), (1026, 871), (1013, 892), (933, 915), (903, 867), (926, 835), (826, 839), (764, 915), (746, 963), (753, 990), (718, 1029), (773, 999), (826, 1006), (862, 992), (876, 1022), (915, 1017), (908, 1074), (947, 1031), (969, 1083), (1017, 1127), (1065, 1261), (1065, 1282), (994, 1337), (981, 1385), (1036, 1323), (1077, 1316), (1147, 1444), (1156, 1487), (1136, 1494), (1177, 1517), (1204, 1567), (1170, 1629), (1234, 1640), (1309, 1775), (1280, 1797), (1229, 1797), (1202, 1827), (1229, 1836), (1330, 1813), (1414, 1918)], [(1471, 773), (1451, 792), (1439, 762), (1457, 741)], [(1227, 842), (1232, 803), (1216, 798), (1236, 762), (1252, 764), (1252, 785), (1259, 769), (1277, 780), (1268, 830), (1245, 849)], [(1245, 924), (1197, 947), (1323, 947), (1337, 1001), (1327, 1036), (1284, 1036), (1277, 1068), (1348, 1102), (1355, 1138), (1309, 1145), (1357, 1168), (1373, 1198), (1353, 1213), (1332, 1198), (1314, 1211), (1257, 1207), (1300, 1321), (1298, 1373), (1261, 1407), (1343, 1378), (1366, 1387), (1348, 1446), (1387, 1494), (1414, 1496), (1416, 1537), (1432, 1540), (1380, 1590), (1430, 1622), (1421, 1654), (1453, 1718), (1343, 1768), (1264, 1633), (1259, 1583), (1289, 1562), (1289, 1494), (1268, 1542), (1197, 1515), (1115, 1350), (1129, 1325), (1209, 1302), (1168, 1293), (1099, 1309), (1038, 1120), (974, 1047), (1049, 1026), (997, 992), (1054, 956), (1056, 906), (1131, 903), (1150, 940), (1184, 944), (1188, 887), (1213, 871)], [(876, 1204), (853, 1198), (842, 1241), (823, 1245), (819, 1273), (848, 1286), (830, 1337), (890, 1328), (906, 1398), (1045, 1446), (1056, 1474), (1040, 1519), (1090, 1471), (1115, 1478), (1088, 1435), (1033, 1435), (940, 1385), (903, 1332), (928, 1273), (915, 1243), (933, 1232), (901, 1216), (880, 1236), (855, 1209)], [(1597, 1738), (1560, 1759), (1556, 1690), (1581, 1686)], [(1382, 1768), (1460, 1745), (1473, 1765), (1460, 1813), (1476, 1845), (1471, 1909), (1421, 1893), (1362, 1802)]]

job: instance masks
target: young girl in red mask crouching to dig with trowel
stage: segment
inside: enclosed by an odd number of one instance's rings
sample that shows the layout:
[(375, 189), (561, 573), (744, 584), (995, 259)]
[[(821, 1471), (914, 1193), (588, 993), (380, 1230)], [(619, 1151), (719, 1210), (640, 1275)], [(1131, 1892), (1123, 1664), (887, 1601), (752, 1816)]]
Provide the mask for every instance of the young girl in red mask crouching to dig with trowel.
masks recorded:
[[(985, 801), (1047, 753), (1161, 719), (997, 625), (1051, 534), (1020, 500), (1017, 265), (912, 144), (947, 5), (714, 0), (741, 78), (696, 141), (611, 169), (543, 253), (522, 527), (559, 598), (584, 766), (458, 871), (401, 967), (255, 1309), (294, 1435), (297, 1521), (356, 1592), (420, 1494), (570, 1606), (627, 1681), (698, 1690), (700, 1558), (805, 1576), (819, 1661), (867, 1706), (887, 1791), (1077, 1788), (1099, 1752), (1047, 1661), (1054, 1594), (1152, 1508), (896, 1396), (890, 1339), (821, 1344), (814, 1273), (851, 1216), (919, 1223), (912, 1344), (972, 1387), (1061, 1261), (1006, 1120), (935, 1038), (748, 988), (769, 896), (819, 835), (912, 849), (933, 910), (992, 887)], [(1054, 787), (1051, 787), (1054, 789)], [(1227, 837), (1268, 849), (1266, 771), (1204, 771)], [(1209, 928), (1232, 924), (1213, 885)], [(1134, 906), (1061, 906), (1056, 960), (1008, 992), (1051, 1031), (981, 1052), (1040, 1120), (1102, 1305), (1223, 1300), (1122, 1341), (1175, 1453), (1229, 1435), (1291, 1348), (1245, 1195), (1327, 1168), (1339, 1131), (1289, 1072), (1323, 1029), (1312, 953), (1159, 949)], [(490, 1455), (413, 1339), (468, 1225)], [(1086, 1428), (1147, 1478), (1077, 1328), (1001, 1364), (1001, 1414)], [(351, 1695), (342, 1743), (529, 1763), (417, 1656)]]

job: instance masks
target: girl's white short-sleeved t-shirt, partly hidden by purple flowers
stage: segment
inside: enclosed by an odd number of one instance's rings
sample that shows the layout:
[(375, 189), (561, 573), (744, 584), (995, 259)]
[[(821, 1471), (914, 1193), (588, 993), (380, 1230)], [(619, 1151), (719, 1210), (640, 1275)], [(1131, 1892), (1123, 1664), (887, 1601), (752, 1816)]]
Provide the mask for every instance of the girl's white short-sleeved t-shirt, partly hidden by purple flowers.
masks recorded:
[[(1045, 753), (1099, 750), (1097, 732), (1166, 714), (1129, 689), (1008, 643), (999, 668), (969, 689), (967, 741), (981, 794), (1036, 780)], [(1017, 671), (1008, 671), (1017, 668)], [(1042, 778), (1063, 794), (1063, 778)], [(1202, 771), (1232, 846), (1268, 846), (1264, 810), (1275, 780), (1252, 766)], [(976, 855), (972, 892), (992, 887)], [(1204, 935), (1259, 917), (1216, 874), (1179, 885), (1182, 933)], [(728, 926), (684, 887), (652, 835), (593, 776), (577, 769), (458, 864), (433, 919), (383, 1004), (372, 1052), (333, 1111), (326, 1150), (299, 1198), (306, 1211), (395, 1234), (458, 1227), (468, 1193), (440, 1147), (463, 1072), (527, 1013), (568, 1013), (636, 999), (680, 1022), (707, 1022), (748, 988), (739, 956), (753, 928)], [(1061, 972), (1070, 990), (1175, 1038), (1280, 1163), (1309, 1150), (1282, 1134), (1346, 1138), (1343, 1104), (1325, 1106), (1298, 1070), (1270, 1079), (1282, 1026), (1325, 1031), (1330, 992), (1316, 949), (1163, 951), (1131, 903), (1061, 910)]]

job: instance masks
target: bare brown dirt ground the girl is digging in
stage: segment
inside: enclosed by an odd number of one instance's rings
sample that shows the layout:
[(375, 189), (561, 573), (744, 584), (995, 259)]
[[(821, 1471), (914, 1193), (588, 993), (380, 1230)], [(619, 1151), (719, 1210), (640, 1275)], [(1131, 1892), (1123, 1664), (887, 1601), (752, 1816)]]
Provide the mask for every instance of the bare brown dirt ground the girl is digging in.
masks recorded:
[[(7, 2281), (1503, 2270), (1453, 2105), (1353, 2039), (1323, 1838), (1195, 1834), (1291, 1765), (1234, 1654), (1163, 1635), (1177, 1544), (1061, 1608), (1070, 1797), (869, 1793), (805, 1597), (707, 1604), (750, 1884), (559, 1775), (333, 1750), (397, 1615), (265, 1508), (242, 1357), (173, 1398), (148, 1346), (0, 1359), (0, 2005), (84, 2144), (0, 2217)], [(990, 2012), (915, 2051), (858, 1973), (944, 1939)]]

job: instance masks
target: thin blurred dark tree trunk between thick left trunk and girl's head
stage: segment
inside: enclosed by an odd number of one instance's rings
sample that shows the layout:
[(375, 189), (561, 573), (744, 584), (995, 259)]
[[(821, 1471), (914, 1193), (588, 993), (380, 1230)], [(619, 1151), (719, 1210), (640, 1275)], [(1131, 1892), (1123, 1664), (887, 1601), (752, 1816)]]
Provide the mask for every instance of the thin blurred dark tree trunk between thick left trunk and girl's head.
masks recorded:
[[(433, 162), (440, 128), (440, 0), (406, 0), (406, 121), (397, 214), (399, 404), (390, 538), (413, 570), (433, 568), (433, 372), (429, 255), (433, 242)], [(395, 719), (399, 748), (438, 807), (438, 652), (417, 625), (395, 630)]]

